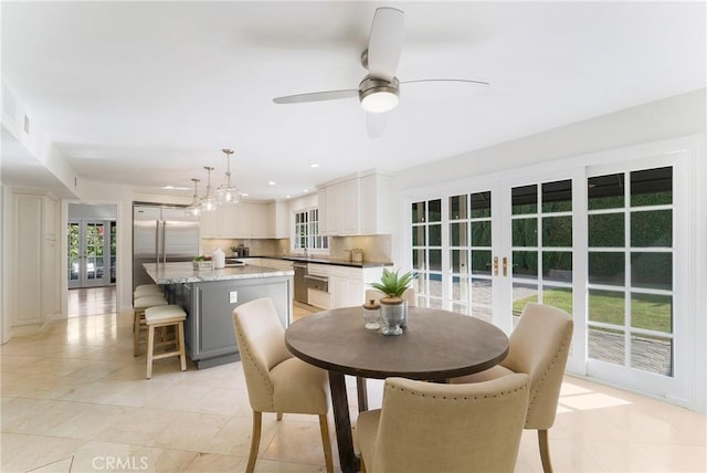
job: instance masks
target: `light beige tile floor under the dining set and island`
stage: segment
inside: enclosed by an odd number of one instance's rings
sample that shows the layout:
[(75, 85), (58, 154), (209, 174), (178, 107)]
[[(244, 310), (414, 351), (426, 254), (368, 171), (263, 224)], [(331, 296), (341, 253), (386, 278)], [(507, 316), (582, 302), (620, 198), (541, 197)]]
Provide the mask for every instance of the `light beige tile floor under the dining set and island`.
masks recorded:
[[(181, 372), (168, 358), (146, 380), (130, 313), (56, 322), (0, 353), (2, 472), (245, 469), (251, 409), (240, 362)], [(349, 389), (355, 402), (354, 379)], [(380, 392), (369, 381), (371, 408)], [(572, 377), (550, 430), (557, 472), (704, 472), (705, 444), (705, 416)], [(265, 414), (258, 459), (258, 472), (324, 471), (316, 417)], [(516, 471), (541, 471), (535, 432), (524, 432)]]

